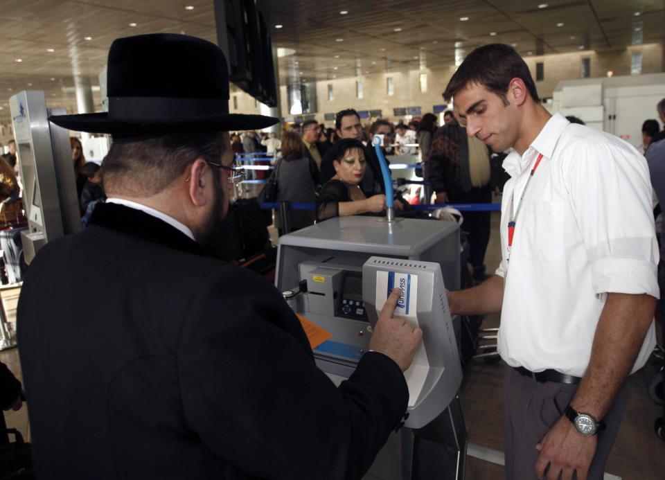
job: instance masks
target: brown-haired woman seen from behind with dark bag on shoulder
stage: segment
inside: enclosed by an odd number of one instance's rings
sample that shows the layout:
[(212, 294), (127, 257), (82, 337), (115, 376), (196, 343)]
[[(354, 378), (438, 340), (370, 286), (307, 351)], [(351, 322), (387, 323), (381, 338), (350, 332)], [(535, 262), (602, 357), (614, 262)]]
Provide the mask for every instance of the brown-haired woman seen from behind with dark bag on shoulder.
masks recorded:
[[(319, 167), (305, 154), (303, 141), (296, 132), (286, 132), (282, 137), (282, 157), (275, 165), (277, 171), (276, 202), (314, 203), (321, 188)], [(291, 210), (291, 231), (314, 224), (311, 210)], [(283, 234), (281, 216), (275, 215), (275, 226)]]

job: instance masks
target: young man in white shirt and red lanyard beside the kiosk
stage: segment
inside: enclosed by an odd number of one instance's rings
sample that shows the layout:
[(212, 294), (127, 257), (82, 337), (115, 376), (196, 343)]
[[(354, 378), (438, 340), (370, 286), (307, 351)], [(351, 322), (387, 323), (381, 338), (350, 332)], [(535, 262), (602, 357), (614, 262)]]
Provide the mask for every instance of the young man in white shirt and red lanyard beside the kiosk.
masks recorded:
[(513, 148), (502, 262), (492, 278), (448, 296), (453, 314), (501, 311), (506, 478), (602, 479), (626, 377), (655, 346), (646, 160), (615, 136), (549, 114), (507, 45), (472, 51), (444, 97), (469, 136), (495, 152)]

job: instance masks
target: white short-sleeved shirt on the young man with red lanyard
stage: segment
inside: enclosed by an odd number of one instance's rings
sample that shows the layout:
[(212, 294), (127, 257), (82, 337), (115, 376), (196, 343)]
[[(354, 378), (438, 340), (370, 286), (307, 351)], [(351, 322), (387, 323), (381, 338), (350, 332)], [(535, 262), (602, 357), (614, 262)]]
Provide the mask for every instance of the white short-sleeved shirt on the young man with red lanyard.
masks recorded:
[[(515, 210), (508, 261), (508, 217)], [(520, 156), (504, 160), (511, 175), (501, 208), (505, 278), (499, 353), (511, 366), (584, 375), (608, 292), (658, 298), (658, 245), (644, 157), (616, 136), (550, 118)], [(632, 368), (655, 346), (653, 322)]]

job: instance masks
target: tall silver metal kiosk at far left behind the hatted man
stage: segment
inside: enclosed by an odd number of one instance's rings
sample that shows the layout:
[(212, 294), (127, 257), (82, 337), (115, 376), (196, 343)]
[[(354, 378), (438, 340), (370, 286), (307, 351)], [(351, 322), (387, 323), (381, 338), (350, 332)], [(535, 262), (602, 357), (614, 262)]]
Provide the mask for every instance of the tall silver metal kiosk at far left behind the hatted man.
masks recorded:
[(28, 229), (21, 232), (26, 263), (49, 240), (80, 231), (69, 130), (48, 121), (64, 109), (46, 108), (43, 91), (10, 98)]

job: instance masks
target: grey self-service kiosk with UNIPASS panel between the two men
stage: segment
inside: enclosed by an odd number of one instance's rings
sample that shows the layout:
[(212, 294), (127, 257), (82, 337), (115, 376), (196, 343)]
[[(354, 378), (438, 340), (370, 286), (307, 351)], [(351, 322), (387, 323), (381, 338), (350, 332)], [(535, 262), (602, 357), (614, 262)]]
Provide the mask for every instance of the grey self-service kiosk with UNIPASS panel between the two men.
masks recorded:
[(392, 287), (396, 316), (423, 329), (405, 372), (409, 416), (391, 435), (367, 479), (463, 479), (466, 434), (457, 392), (462, 373), (445, 287), (459, 288), (459, 226), (454, 222), (337, 217), (283, 235), (276, 286), (300, 292), (290, 304), (331, 335), (314, 348), (317, 366), (337, 384), (369, 348)]

